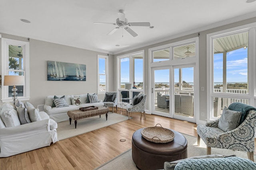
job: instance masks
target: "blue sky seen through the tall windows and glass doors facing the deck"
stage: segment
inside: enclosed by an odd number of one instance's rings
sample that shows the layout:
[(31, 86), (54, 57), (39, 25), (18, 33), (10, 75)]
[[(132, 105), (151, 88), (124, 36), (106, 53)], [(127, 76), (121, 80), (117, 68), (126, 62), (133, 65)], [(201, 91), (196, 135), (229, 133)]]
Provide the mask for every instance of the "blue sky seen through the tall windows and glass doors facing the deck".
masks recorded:
[[(121, 82), (129, 82), (129, 58), (121, 60)], [(135, 62), (135, 81), (143, 81), (142, 59)], [(222, 53), (214, 55), (214, 82), (222, 82), (223, 59)], [(182, 80), (194, 82), (193, 68), (182, 68)], [(169, 70), (156, 70), (155, 82), (169, 82)], [(179, 82), (178, 68), (174, 69), (174, 82)], [(247, 48), (227, 53), (227, 82), (247, 82)]]

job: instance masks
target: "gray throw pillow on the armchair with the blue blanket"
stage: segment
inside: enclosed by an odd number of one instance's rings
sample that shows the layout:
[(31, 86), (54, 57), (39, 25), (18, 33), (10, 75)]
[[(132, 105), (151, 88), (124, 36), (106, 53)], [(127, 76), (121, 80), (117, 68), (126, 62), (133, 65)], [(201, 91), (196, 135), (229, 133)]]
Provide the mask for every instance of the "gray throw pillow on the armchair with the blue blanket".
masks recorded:
[(241, 114), (240, 111), (234, 111), (224, 107), (219, 119), (218, 128), (225, 132), (236, 129), (239, 125)]

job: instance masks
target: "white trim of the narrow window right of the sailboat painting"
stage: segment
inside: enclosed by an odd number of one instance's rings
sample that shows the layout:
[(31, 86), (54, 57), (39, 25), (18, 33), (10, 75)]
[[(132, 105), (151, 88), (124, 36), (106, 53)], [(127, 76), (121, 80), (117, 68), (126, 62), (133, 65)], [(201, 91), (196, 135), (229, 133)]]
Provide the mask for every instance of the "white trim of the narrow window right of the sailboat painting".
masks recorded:
[[(99, 71), (99, 59), (104, 58), (105, 60), (105, 74), (100, 74)], [(104, 94), (105, 92), (108, 92), (108, 56), (105, 55), (98, 55), (97, 56), (97, 67), (98, 67), (98, 79), (97, 79), (97, 86), (98, 86), (98, 94)], [(106, 91), (102, 92), (100, 91), (100, 75), (105, 75), (106, 76)]]

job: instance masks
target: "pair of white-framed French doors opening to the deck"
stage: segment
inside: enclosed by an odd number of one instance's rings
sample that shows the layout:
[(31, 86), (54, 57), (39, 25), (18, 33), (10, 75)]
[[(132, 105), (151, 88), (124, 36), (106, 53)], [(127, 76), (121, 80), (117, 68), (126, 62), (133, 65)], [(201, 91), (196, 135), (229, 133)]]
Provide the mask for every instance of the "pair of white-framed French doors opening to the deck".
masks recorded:
[(194, 66), (152, 68), (152, 114), (196, 122)]

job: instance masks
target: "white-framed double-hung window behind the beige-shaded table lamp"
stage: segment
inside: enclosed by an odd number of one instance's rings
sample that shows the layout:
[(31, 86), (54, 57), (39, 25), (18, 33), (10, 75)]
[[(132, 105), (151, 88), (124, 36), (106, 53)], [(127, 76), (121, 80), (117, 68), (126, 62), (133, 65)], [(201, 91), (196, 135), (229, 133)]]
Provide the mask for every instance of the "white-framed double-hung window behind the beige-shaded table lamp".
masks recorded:
[[(29, 100), (28, 42), (2, 38), (2, 85), (4, 75), (25, 76), (25, 85), (16, 86), (16, 96), (19, 100)], [(12, 101), (12, 88), (13, 86), (2, 86), (2, 102)]]

